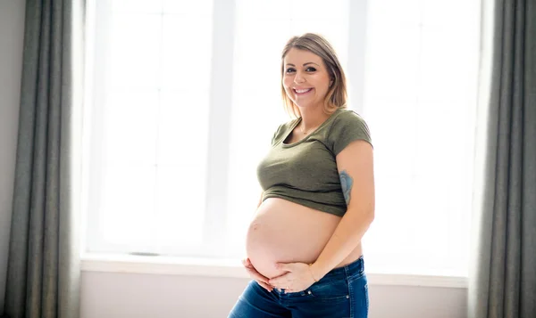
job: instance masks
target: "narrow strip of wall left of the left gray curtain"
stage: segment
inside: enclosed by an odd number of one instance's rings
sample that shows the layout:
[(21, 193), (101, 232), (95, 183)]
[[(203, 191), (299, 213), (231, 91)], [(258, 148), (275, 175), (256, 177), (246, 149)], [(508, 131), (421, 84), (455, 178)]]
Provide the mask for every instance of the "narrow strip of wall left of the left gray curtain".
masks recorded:
[(0, 0), (0, 315), (4, 314), (19, 118), (24, 1)]

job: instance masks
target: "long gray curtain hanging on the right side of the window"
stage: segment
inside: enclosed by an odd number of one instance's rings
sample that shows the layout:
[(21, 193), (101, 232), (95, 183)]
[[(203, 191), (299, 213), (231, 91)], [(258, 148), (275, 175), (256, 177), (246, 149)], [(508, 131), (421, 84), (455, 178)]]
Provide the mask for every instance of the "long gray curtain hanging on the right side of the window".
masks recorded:
[(536, 317), (536, 1), (482, 5), (484, 143), (468, 316)]

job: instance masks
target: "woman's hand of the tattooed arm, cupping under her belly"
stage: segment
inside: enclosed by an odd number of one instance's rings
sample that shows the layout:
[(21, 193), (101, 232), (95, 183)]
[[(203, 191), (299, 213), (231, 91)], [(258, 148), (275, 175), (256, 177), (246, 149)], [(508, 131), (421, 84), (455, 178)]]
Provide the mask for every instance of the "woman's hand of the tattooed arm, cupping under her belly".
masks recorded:
[(287, 273), (272, 278), (268, 283), (274, 288), (285, 289), (285, 292), (305, 290), (317, 281), (311, 266), (305, 263), (278, 263), (276, 268)]

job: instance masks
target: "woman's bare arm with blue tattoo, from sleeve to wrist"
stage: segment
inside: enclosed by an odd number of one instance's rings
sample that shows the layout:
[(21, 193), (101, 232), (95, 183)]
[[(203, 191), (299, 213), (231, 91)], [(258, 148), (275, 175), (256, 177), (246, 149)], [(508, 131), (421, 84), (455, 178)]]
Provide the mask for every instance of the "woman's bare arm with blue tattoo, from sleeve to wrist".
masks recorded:
[(311, 265), (315, 280), (339, 265), (357, 245), (374, 219), (373, 147), (358, 140), (337, 155), (340, 183), (348, 210), (330, 241)]

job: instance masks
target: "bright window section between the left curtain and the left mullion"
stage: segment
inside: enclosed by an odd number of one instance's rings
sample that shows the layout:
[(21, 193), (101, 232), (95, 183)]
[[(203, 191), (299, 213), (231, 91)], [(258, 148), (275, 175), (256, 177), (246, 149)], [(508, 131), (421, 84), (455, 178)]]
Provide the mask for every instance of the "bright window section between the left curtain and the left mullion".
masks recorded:
[(191, 253), (203, 243), (213, 2), (104, 1), (88, 248)]

